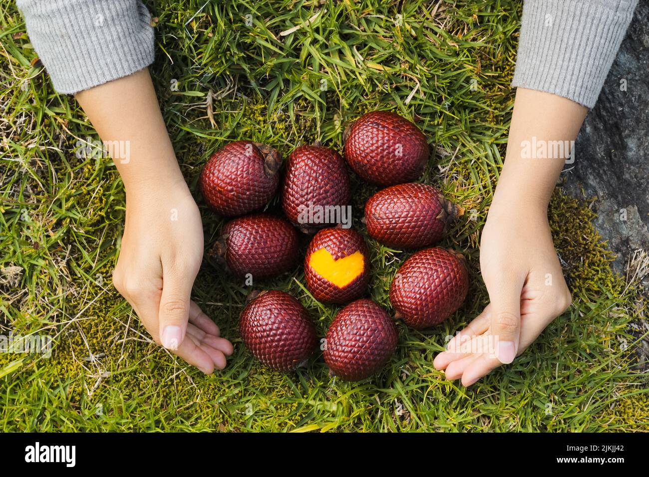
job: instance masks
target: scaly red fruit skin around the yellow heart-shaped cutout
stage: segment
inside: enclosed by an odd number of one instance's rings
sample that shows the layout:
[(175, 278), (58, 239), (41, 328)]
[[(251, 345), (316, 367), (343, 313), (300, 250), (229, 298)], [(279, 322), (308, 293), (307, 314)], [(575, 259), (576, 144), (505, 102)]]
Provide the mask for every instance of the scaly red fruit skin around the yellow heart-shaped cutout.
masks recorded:
[[(363, 256), (362, 271), (349, 284), (339, 287), (316, 271), (311, 258), (314, 252), (325, 249), (334, 261), (343, 260), (356, 252)], [(363, 237), (350, 228), (324, 228), (313, 236), (304, 258), (304, 278), (306, 287), (313, 298), (323, 303), (348, 303), (357, 299), (367, 289), (369, 283), (369, 252)]]

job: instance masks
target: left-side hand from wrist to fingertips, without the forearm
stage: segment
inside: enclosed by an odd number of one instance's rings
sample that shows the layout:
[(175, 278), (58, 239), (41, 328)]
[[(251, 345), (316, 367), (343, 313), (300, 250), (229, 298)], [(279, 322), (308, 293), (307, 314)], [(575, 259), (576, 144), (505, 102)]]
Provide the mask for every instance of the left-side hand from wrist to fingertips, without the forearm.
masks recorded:
[(113, 283), (158, 345), (210, 374), (225, 367), (233, 348), (190, 298), (202, 252), (201, 215), (182, 176), (156, 190), (127, 188)]

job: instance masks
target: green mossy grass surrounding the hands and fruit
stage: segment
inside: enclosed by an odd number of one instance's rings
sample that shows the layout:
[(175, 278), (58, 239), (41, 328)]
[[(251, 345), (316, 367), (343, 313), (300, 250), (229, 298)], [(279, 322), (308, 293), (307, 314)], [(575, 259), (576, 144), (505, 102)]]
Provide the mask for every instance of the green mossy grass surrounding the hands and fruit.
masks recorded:
[[(0, 354), (0, 428), (648, 430), (647, 379), (632, 363), (637, 337), (630, 330), (644, 310), (637, 284), (613, 275), (589, 208), (560, 191), (550, 221), (573, 306), (513, 365), (469, 389), (432, 366), (444, 337), (487, 301), (478, 244), (511, 117), (519, 2), (229, 3), (236, 5), (150, 5), (158, 17), (153, 78), (201, 206), (206, 247), (221, 221), (196, 183), (212, 151), (239, 138), (284, 155), (316, 139), (339, 149), (348, 121), (391, 109), (417, 121), (434, 144), (422, 180), (467, 210), (443, 242), (469, 258), (463, 308), (426, 332), (400, 324), (397, 353), (363, 382), (330, 378), (321, 356), (298, 373), (272, 373), (238, 334), (249, 289), (205, 263), (194, 298), (235, 345), (227, 369), (205, 377), (155, 347), (110, 282), (125, 214), (119, 175), (108, 160), (77, 158), (77, 140), (97, 134), (73, 98), (53, 91), (14, 3), (4, 3), (0, 334), (47, 334), (55, 348), (49, 359)], [(282, 35), (296, 25), (302, 27)], [(352, 188), (360, 226), (375, 189), (356, 177)], [(368, 243), (371, 297), (389, 308), (389, 282), (407, 255)], [(297, 268), (257, 287), (295, 294), (324, 336), (337, 308), (315, 302), (303, 283)]]

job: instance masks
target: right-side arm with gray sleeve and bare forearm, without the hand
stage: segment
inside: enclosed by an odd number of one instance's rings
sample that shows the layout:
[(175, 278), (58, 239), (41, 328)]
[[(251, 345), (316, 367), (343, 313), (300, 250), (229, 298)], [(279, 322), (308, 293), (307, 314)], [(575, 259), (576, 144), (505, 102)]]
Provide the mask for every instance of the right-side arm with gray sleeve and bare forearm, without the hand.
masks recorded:
[(637, 0), (524, 2), (512, 81), (518, 90), (492, 210), (520, 205), (545, 215), (636, 5)]

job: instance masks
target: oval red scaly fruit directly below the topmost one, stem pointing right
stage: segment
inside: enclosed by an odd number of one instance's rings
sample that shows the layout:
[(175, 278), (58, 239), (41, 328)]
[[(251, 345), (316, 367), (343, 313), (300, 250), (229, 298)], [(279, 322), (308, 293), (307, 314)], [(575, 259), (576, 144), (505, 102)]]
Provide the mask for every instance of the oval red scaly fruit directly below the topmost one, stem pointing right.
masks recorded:
[(403, 249), (434, 245), (458, 217), (458, 207), (432, 186), (398, 184), (378, 191), (365, 204), (365, 225), (373, 239)]

